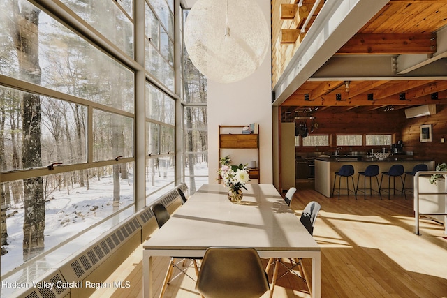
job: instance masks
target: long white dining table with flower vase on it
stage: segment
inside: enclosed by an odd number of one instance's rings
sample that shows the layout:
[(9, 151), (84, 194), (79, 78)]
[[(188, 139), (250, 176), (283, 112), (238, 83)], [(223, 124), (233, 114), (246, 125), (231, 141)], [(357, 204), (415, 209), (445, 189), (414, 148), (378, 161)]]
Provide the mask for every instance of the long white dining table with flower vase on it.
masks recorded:
[(153, 297), (152, 257), (203, 257), (209, 247), (253, 247), (261, 258), (312, 259), (312, 297), (321, 297), (320, 246), (272, 184), (247, 184), (241, 204), (222, 184), (200, 187), (143, 244), (143, 297)]

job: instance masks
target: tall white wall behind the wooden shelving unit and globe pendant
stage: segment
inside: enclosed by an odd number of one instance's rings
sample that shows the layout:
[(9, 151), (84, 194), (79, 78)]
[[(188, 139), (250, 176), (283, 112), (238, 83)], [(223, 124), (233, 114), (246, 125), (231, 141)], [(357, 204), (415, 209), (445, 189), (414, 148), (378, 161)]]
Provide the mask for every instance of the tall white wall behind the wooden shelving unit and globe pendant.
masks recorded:
[[(270, 1), (258, 0), (270, 24)], [(261, 183), (272, 183), (272, 71), (271, 50), (249, 77), (231, 84), (208, 80), (208, 158), (210, 184), (219, 166), (219, 125), (259, 124)], [(237, 162), (236, 153), (230, 154)], [(254, 158), (256, 160), (256, 158)], [(248, 163), (247, 161), (246, 163)]]

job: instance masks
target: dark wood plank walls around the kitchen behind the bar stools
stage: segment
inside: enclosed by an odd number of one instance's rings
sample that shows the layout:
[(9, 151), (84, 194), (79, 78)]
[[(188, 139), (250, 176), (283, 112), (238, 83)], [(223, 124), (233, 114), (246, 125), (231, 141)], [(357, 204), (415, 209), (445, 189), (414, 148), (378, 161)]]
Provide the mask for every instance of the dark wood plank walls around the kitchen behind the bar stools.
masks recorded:
[[(437, 114), (406, 119), (404, 109), (383, 112), (318, 112), (314, 114), (318, 128), (313, 135), (330, 135), (329, 147), (295, 147), (297, 154), (335, 151), (337, 134), (395, 133), (395, 141), (404, 142), (404, 151), (413, 151), (415, 158), (433, 159), (436, 164), (447, 163), (447, 105), (437, 105)], [(419, 142), (419, 126), (432, 124), (432, 142)], [(310, 126), (310, 120), (307, 120)], [(312, 135), (311, 134), (311, 135)], [(441, 143), (444, 137), (446, 142)], [(371, 151), (372, 147), (342, 147), (342, 152)], [(374, 151), (381, 149), (374, 148)], [(387, 148), (388, 150), (389, 148)]]

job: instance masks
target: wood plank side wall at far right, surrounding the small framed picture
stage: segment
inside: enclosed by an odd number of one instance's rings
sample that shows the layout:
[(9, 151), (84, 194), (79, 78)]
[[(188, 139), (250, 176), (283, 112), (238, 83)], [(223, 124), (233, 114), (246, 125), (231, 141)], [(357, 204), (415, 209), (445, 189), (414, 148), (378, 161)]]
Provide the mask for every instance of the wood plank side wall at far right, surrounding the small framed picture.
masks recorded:
[[(419, 141), (419, 126), (432, 124), (432, 142)], [(402, 126), (404, 149), (414, 151), (415, 157), (447, 163), (447, 105), (437, 105), (437, 113), (427, 117), (406, 119)], [(445, 143), (441, 143), (441, 138)]]

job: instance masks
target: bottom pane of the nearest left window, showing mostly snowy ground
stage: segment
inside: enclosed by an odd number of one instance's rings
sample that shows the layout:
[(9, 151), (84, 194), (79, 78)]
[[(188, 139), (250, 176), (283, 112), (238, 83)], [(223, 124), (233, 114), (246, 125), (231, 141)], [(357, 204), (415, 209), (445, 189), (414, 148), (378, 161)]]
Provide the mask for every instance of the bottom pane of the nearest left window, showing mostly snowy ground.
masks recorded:
[[(39, 251), (48, 251), (59, 244), (66, 243), (89, 229), (95, 223), (103, 221), (111, 214), (133, 204), (133, 163), (120, 164), (121, 170), (126, 171), (126, 178), (119, 179), (119, 198), (114, 200), (112, 193), (116, 187), (113, 183), (114, 167), (93, 167), (88, 170), (51, 174), (36, 177), (41, 181), (41, 191), (45, 200), (45, 234)], [(7, 211), (8, 245), (2, 248), (7, 251), (1, 258), (1, 274), (6, 274), (20, 265), (25, 251), (35, 251), (24, 238), (24, 220), (27, 218), (23, 200), (26, 196), (24, 188), (30, 187), (28, 179), (1, 183), (2, 191), (6, 191), (5, 206)], [(3, 204), (3, 203), (2, 203)], [(103, 231), (105, 232), (105, 230)], [(95, 234), (94, 237), (98, 237)], [(87, 243), (87, 239), (85, 239)], [(61, 261), (61, 260), (59, 260)], [(41, 264), (41, 266), (51, 266)], [(49, 268), (47, 268), (49, 269)], [(36, 278), (42, 273), (36, 267), (27, 272), (29, 277)], [(16, 280), (27, 282), (26, 279)], [(3, 279), (3, 278), (2, 278)], [(3, 290), (3, 287), (2, 287)], [(5, 289), (6, 290), (6, 289)], [(2, 297), (7, 297), (1, 295)]]

